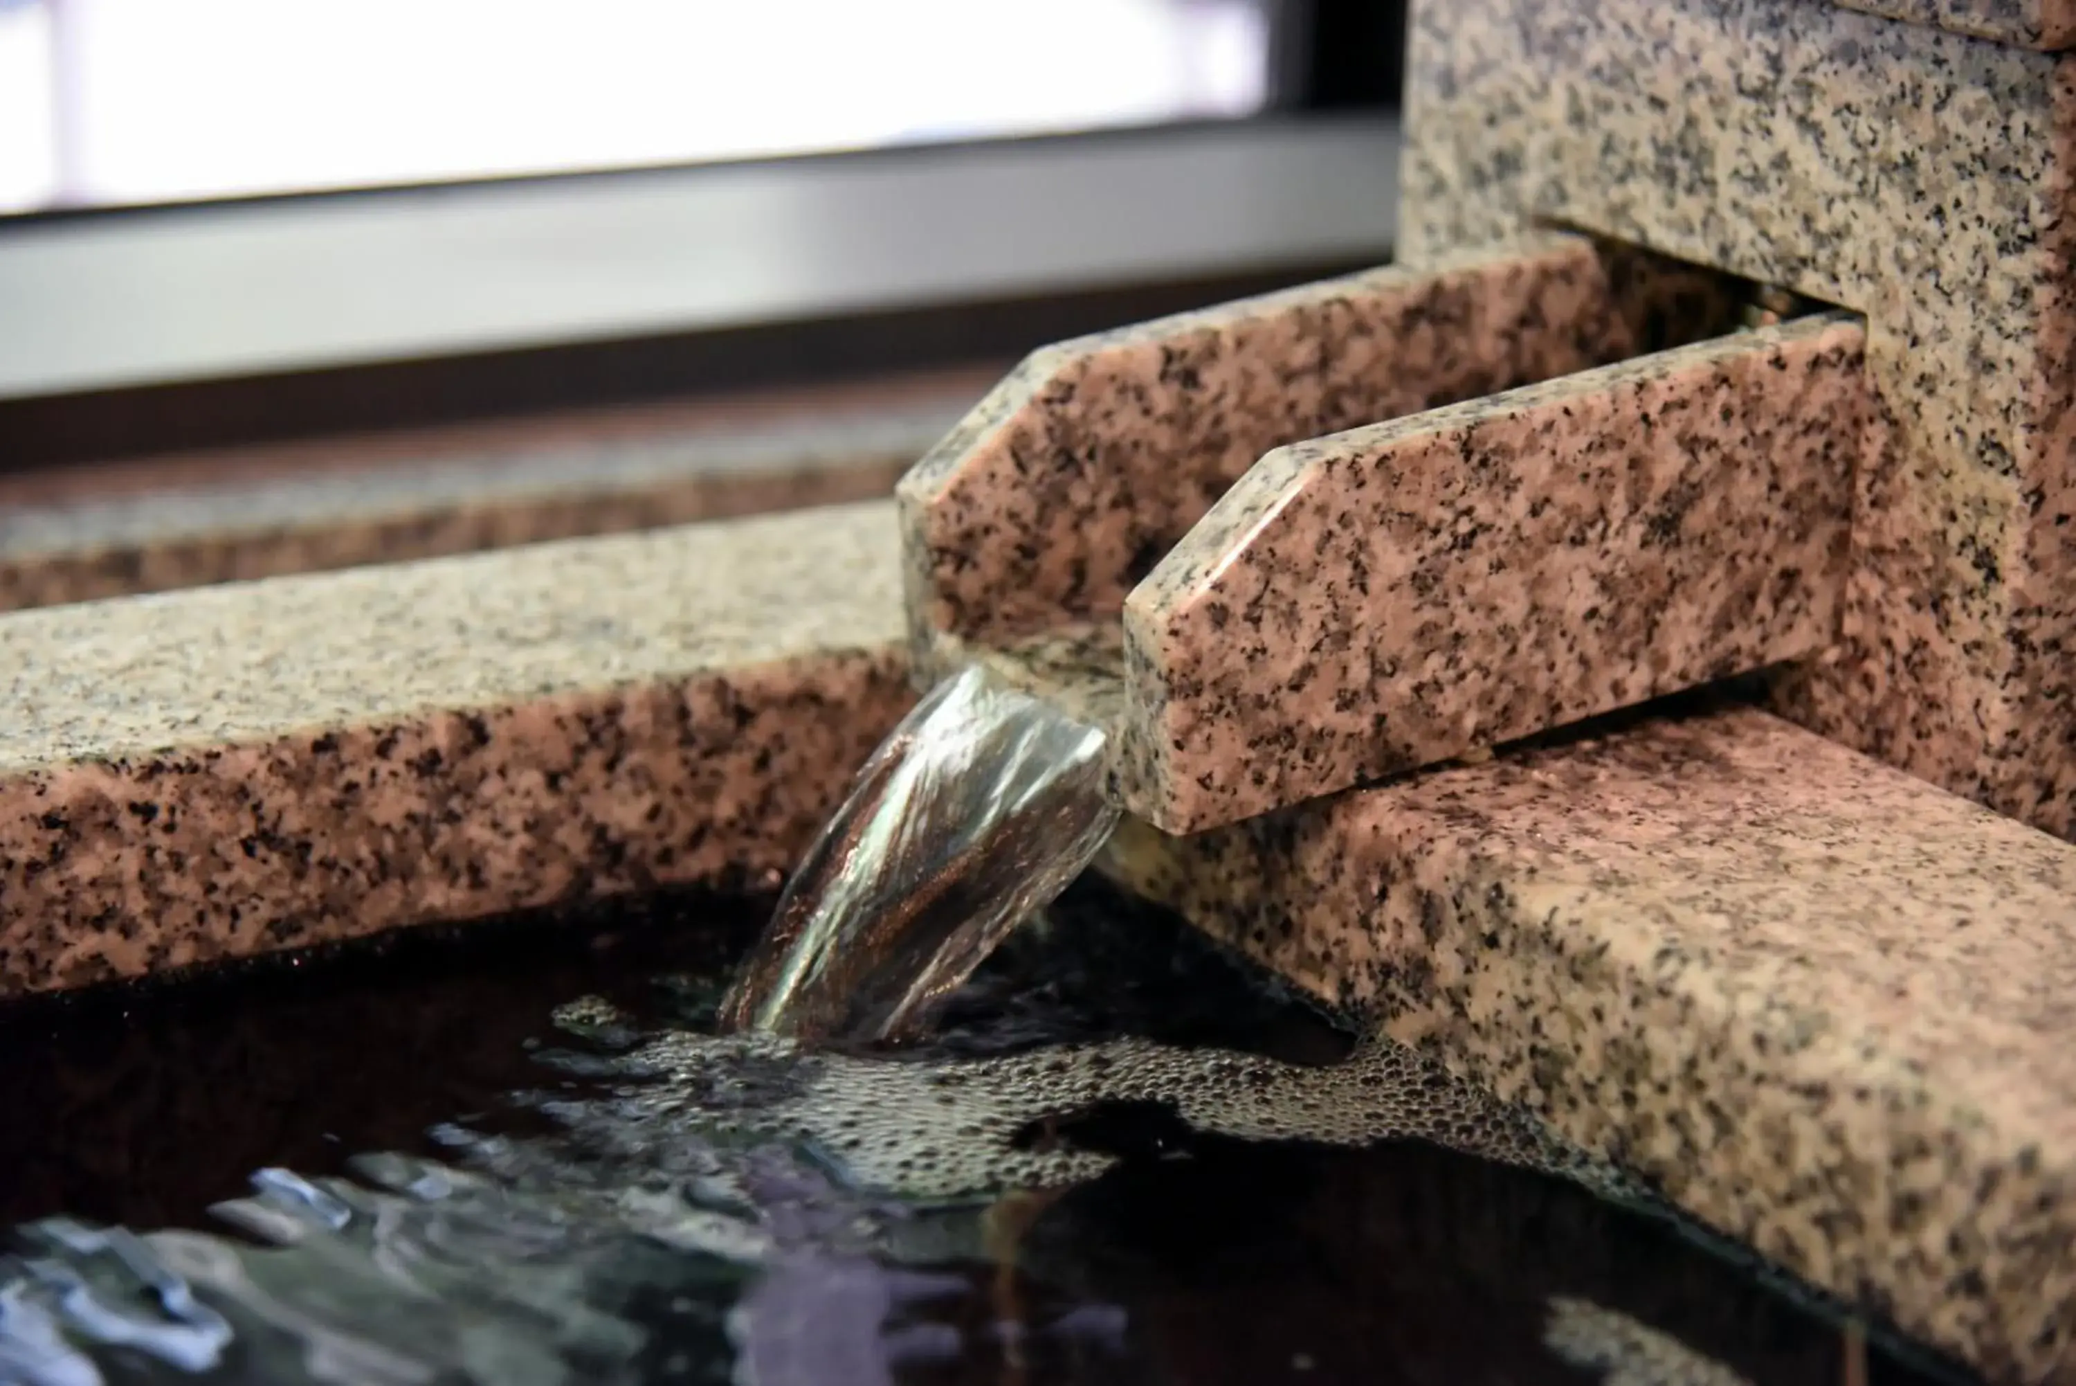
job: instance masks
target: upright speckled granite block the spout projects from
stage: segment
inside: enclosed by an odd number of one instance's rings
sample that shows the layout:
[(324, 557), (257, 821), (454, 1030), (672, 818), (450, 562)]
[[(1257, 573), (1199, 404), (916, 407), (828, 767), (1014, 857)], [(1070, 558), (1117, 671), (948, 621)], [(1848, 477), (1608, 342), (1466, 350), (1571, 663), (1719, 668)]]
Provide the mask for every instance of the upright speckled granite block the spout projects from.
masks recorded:
[(1889, 451), (1781, 707), (2076, 835), (2076, 56), (1804, 0), (1422, 0), (1408, 83), (1401, 256), (1555, 218), (1866, 314)]

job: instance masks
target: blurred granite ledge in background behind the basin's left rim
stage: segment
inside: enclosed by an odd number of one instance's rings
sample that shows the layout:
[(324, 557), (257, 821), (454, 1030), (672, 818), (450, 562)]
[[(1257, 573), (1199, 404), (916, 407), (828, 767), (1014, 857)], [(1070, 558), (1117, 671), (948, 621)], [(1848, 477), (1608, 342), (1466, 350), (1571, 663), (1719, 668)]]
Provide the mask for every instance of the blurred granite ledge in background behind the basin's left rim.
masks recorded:
[(430, 432), (419, 455), (409, 438), (359, 457), (289, 447), (260, 476), (270, 457), (253, 449), (220, 459), (222, 480), (152, 486), (129, 468), (116, 495), (64, 503), (6, 505), (0, 482), (0, 611), (884, 497), (969, 399), (727, 428), (627, 411), (482, 441)]

